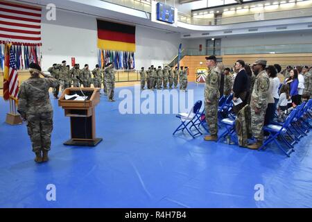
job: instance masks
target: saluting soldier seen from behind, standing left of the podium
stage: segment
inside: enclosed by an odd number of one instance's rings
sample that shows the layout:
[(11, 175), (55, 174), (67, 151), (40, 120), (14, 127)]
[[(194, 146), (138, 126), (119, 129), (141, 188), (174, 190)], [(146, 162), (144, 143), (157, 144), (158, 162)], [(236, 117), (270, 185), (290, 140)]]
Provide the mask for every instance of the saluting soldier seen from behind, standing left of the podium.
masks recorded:
[[(28, 135), (31, 137), (35, 162), (49, 160), (51, 132), (53, 130), (53, 109), (49, 99), (49, 88), (56, 87), (58, 80), (44, 74), (39, 65), (29, 65), (31, 78), (19, 87), (17, 112), (27, 121)], [(40, 78), (40, 74), (44, 78)]]

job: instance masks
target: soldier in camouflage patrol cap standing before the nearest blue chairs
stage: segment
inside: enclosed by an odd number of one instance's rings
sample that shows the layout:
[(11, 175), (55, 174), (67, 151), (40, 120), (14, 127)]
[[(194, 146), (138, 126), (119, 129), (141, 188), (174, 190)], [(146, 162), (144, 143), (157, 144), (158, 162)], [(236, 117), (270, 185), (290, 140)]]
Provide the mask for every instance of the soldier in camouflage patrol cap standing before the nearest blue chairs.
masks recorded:
[(248, 146), (251, 149), (258, 149), (263, 143), (263, 123), (268, 107), (268, 89), (270, 80), (266, 73), (266, 60), (257, 60), (252, 65), (252, 71), (256, 76), (254, 89), (250, 99), (251, 129), (252, 135), (257, 142)]

